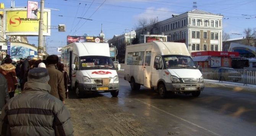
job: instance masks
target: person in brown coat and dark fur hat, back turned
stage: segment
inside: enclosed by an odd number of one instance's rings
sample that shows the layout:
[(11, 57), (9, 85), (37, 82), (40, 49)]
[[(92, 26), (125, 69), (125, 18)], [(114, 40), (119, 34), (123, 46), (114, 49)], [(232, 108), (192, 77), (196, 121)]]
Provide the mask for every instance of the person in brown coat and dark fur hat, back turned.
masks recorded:
[(49, 85), (51, 86), (51, 92), (53, 96), (59, 98), (63, 104), (65, 104), (65, 86), (64, 86), (64, 79), (63, 74), (60, 72), (56, 64), (58, 63), (58, 56), (57, 55), (50, 55), (46, 58), (47, 60), (47, 70), (49, 73)]

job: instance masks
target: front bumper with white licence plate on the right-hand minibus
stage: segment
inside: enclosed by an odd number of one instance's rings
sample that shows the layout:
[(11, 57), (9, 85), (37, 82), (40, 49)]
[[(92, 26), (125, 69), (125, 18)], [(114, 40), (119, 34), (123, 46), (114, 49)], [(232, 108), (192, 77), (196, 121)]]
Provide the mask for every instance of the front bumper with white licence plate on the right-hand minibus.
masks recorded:
[(165, 83), (166, 91), (203, 91), (204, 83)]

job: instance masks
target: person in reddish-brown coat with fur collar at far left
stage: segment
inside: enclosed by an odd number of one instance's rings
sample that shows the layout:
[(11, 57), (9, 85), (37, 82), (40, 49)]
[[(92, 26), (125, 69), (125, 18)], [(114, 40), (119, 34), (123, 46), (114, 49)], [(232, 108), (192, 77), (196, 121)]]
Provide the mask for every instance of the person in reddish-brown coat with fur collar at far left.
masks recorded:
[(11, 64), (12, 60), (10, 58), (5, 59), (5, 64), (0, 66), (0, 73), (5, 76), (8, 85), (8, 93), (10, 98), (14, 96), (14, 91), (18, 85), (17, 77), (15, 73), (15, 66)]

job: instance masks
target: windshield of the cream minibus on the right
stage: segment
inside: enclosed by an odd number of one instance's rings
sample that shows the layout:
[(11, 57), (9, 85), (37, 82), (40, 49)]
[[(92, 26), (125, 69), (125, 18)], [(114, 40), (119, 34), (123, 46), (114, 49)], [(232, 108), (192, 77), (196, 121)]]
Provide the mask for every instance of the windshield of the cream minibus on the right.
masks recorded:
[(183, 55), (164, 55), (165, 66), (168, 69), (186, 68), (196, 69), (196, 65), (190, 56)]

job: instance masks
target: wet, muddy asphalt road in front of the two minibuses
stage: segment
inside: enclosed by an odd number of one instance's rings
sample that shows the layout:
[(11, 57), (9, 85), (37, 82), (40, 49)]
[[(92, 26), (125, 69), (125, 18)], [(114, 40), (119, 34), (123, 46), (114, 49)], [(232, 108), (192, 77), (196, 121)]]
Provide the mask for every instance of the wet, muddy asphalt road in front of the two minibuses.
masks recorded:
[(75, 136), (255, 136), (256, 94), (207, 85), (198, 98), (176, 95), (161, 99), (150, 89), (131, 91), (119, 73), (118, 98), (110, 93), (77, 99), (66, 106)]

